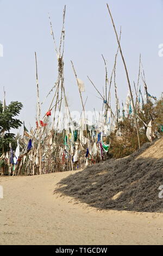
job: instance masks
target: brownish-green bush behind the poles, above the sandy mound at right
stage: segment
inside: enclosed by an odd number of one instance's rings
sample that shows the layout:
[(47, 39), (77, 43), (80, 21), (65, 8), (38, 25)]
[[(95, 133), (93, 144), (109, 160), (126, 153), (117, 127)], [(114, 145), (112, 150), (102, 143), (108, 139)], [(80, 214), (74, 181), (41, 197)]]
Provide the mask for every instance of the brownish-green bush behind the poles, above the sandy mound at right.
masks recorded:
[[(153, 131), (159, 132), (162, 136), (163, 132), (163, 100), (159, 100), (154, 105), (151, 100), (143, 106), (142, 111), (138, 111), (137, 115), (141, 120), (144, 121), (146, 125), (152, 120)], [(146, 125), (138, 119), (139, 125), (139, 135), (141, 146), (149, 142), (146, 136), (147, 127)], [(136, 128), (134, 124), (134, 119), (130, 116), (124, 118), (123, 121), (119, 123), (119, 129), (121, 130), (122, 136), (116, 136), (116, 131), (112, 132), (108, 138), (108, 142), (111, 142), (110, 156), (114, 158), (121, 158), (130, 155), (136, 149), (139, 148), (136, 139)]]

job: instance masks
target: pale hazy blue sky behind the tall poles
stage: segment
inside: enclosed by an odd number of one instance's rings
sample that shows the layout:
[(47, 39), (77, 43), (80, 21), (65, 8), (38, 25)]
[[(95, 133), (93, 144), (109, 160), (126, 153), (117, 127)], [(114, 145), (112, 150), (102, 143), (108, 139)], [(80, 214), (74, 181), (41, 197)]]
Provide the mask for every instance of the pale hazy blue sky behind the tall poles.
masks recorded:
[[(21, 120), (35, 125), (36, 86), (35, 58), (37, 52), (40, 98), (44, 100), (57, 79), (57, 59), (50, 34), (48, 12), (51, 14), (56, 41), (59, 41), (62, 10), (66, 4), (65, 88), (71, 110), (81, 110), (79, 93), (70, 60), (73, 60), (78, 77), (85, 82), (84, 99), (89, 96), (86, 109), (101, 110), (95, 89), (87, 75), (101, 90), (105, 83), (105, 69), (101, 54), (107, 60), (111, 73), (117, 42), (112, 28), (106, 0), (1, 0), (0, 44), (4, 57), (0, 58), (0, 92), (3, 86), (6, 101), (21, 101), (24, 108)], [(163, 58), (158, 46), (163, 43), (163, 1), (161, 0), (108, 0), (118, 31), (122, 26), (122, 51), (126, 59), (130, 82), (137, 81), (139, 54), (146, 72), (148, 91), (160, 96), (162, 88)], [(110, 77), (110, 75), (109, 75)], [(141, 83), (142, 84), (142, 83)], [(118, 97), (125, 100), (128, 92), (126, 74), (121, 57), (117, 64)], [(97, 95), (98, 96), (98, 95)], [(112, 87), (114, 102), (114, 88)], [(42, 107), (42, 116), (48, 109), (51, 97)]]

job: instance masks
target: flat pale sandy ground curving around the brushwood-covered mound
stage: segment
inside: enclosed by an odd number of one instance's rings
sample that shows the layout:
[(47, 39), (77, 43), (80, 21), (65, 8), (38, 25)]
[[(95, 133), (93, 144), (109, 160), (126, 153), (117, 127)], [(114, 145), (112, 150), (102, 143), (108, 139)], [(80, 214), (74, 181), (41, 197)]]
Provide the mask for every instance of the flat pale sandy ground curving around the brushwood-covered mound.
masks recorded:
[(0, 245), (163, 245), (163, 214), (98, 211), (53, 195), (67, 175), (0, 177)]

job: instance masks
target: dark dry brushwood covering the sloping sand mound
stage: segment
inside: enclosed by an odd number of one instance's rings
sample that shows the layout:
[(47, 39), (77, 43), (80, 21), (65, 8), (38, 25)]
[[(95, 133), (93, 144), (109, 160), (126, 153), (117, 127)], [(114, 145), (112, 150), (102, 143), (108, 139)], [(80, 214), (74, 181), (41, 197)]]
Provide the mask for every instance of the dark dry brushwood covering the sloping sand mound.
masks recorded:
[[(87, 167), (61, 180), (55, 192), (98, 209), (163, 212), (158, 190), (163, 185), (163, 158), (155, 157), (162, 143), (163, 139), (152, 146), (147, 143), (129, 157)], [(155, 148), (153, 157), (148, 156)]]

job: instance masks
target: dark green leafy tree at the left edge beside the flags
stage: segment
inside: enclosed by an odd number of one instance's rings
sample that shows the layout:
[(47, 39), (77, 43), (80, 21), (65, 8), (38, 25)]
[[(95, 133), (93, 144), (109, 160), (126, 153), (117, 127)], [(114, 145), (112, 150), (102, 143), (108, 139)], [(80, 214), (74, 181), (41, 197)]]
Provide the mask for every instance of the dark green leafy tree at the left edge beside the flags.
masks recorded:
[(22, 122), (15, 117), (20, 114), (23, 105), (21, 102), (13, 101), (9, 106), (5, 106), (3, 112), (3, 105), (0, 101), (0, 153), (9, 150), (9, 143), (12, 143), (13, 149), (16, 147), (15, 134), (10, 133), (10, 129), (18, 129)]

